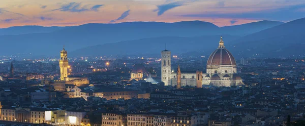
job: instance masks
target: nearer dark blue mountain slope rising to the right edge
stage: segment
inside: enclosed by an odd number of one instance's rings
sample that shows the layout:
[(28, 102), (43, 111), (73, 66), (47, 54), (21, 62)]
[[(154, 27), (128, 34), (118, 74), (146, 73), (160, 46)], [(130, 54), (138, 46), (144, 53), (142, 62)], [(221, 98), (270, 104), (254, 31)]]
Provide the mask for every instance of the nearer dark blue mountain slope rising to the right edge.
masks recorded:
[[(234, 41), (229, 48), (241, 56), (266, 57), (304, 55), (305, 18), (290, 21)], [(235, 47), (234, 47), (235, 46)]]

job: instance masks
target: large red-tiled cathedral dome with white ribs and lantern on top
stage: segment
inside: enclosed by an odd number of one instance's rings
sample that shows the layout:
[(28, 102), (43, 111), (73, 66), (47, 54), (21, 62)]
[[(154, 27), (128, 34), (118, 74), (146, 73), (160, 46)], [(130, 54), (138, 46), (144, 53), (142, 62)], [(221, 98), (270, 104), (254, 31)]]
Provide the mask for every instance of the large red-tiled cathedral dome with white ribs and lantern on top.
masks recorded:
[(233, 55), (225, 48), (222, 37), (218, 49), (209, 56), (206, 65), (236, 65)]

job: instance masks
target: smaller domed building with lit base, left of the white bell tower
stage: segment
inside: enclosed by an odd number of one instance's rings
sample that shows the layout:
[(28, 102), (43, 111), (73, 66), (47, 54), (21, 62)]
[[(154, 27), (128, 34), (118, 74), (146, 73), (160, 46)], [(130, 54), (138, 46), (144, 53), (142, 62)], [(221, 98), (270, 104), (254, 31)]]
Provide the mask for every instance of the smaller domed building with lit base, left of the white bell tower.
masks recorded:
[(141, 80), (144, 77), (147, 77), (147, 71), (146, 68), (142, 64), (136, 64), (130, 73), (130, 80)]

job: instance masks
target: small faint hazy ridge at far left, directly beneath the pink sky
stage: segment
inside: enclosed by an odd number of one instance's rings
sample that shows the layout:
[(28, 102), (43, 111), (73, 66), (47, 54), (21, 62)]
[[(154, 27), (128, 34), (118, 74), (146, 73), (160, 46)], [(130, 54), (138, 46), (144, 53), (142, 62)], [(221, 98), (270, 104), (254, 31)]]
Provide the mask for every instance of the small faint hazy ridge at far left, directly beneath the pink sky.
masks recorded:
[(48, 33), (67, 27), (43, 27), (43, 26), (14, 26), (9, 28), (0, 28), (0, 35), (18, 35), (29, 33)]

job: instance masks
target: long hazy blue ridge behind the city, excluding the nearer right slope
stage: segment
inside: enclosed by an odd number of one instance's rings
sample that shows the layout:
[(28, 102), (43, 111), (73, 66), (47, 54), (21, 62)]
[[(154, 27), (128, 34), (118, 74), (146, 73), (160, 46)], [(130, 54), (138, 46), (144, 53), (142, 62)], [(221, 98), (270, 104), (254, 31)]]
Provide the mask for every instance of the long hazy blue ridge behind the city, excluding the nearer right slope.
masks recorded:
[[(173, 43), (171, 48), (179, 49), (180, 47), (189, 47), (188, 45), (192, 41), (199, 41), (200, 38), (201, 43), (198, 43), (200, 46), (194, 45), (195, 47), (193, 48), (177, 50), (179, 53), (184, 53), (194, 51), (194, 49), (200, 49), (198, 47), (202, 47), (202, 50), (208, 48), (214, 49), (215, 47), (211, 45), (217, 44), (219, 40), (210, 38), (217, 38), (216, 36), (218, 38), (221, 35), (231, 36), (232, 39), (228, 38), (227, 41), (231, 41), (230, 43), (233, 44), (233, 39), (238, 39), (241, 36), (249, 35), (279, 24), (281, 22), (261, 21), (220, 28), (209, 22), (184, 21), (175, 23), (125, 22), (117, 24), (84, 24), (71, 27), (21, 26), (0, 29), (0, 33), (5, 34), (0, 35), (0, 41), (3, 44), (2, 46), (6, 47), (1, 52), (3, 55), (16, 53), (57, 55), (64, 45), (69, 52), (75, 52), (77, 50), (80, 51), (80, 54), (96, 55), (99, 51), (84, 49), (97, 45), (104, 46), (104, 44), (113, 44), (114, 46), (107, 49), (113, 48), (112, 50), (116, 50), (117, 52), (126, 50), (125, 48), (127, 46), (122, 47), (119, 45), (121, 43), (127, 43), (130, 46), (128, 49), (132, 51), (136, 51), (139, 48), (138, 43), (159, 47), (163, 47), (165, 43)], [(245, 29), (248, 29), (247, 32), (245, 32)], [(171, 37), (171, 39), (160, 39), (162, 37)], [(179, 40), (179, 38), (184, 38), (182, 39), (184, 41)], [(179, 44), (174, 44), (178, 43), (178, 41)], [(149, 52), (145, 52), (144, 50), (143, 53)]]

